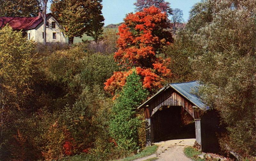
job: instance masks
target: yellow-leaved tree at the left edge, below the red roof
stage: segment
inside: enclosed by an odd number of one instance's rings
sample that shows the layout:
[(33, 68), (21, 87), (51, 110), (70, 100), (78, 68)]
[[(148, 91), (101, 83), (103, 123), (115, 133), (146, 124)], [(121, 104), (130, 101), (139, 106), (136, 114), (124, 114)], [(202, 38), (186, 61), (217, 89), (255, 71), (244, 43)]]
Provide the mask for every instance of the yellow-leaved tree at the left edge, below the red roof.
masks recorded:
[(8, 24), (0, 30), (0, 106), (1, 122), (8, 122), (10, 109), (26, 103), (31, 93), (29, 80), (33, 73), (32, 55), (35, 42), (27, 41), (22, 32), (12, 31)]

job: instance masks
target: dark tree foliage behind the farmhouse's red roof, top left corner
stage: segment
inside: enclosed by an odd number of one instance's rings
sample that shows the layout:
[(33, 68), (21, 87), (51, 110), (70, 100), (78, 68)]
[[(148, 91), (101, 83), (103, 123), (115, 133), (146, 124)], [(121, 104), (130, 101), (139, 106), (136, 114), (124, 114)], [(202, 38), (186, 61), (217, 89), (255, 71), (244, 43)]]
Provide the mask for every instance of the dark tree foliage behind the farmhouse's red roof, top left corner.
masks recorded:
[(35, 0), (0, 0), (1, 17), (35, 17), (39, 11)]

